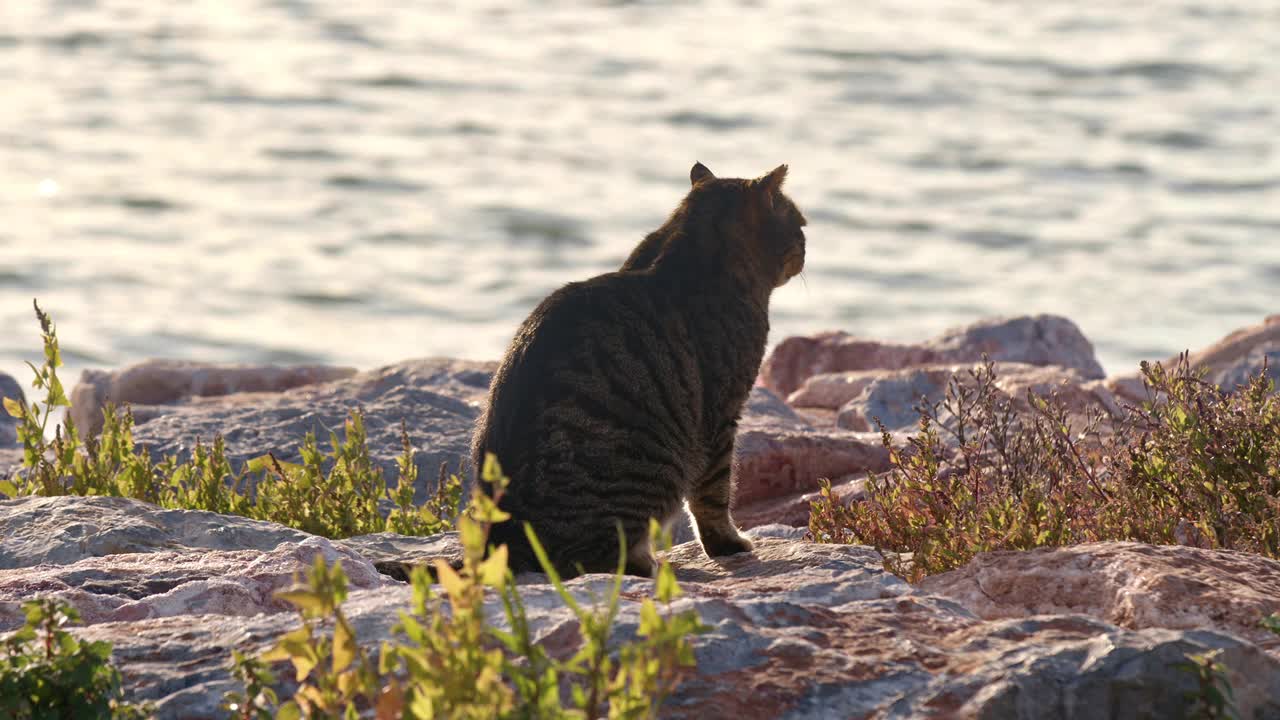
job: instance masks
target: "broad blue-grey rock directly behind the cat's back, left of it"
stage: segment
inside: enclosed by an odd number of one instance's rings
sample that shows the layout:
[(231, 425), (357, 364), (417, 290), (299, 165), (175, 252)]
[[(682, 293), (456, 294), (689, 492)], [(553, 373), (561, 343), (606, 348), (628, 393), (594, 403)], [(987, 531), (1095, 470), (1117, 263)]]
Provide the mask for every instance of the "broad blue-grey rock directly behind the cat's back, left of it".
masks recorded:
[(360, 409), (370, 454), (389, 483), (398, 477), (396, 457), (402, 452), (404, 423), (417, 450), (419, 501), (422, 501), (435, 488), (442, 464), (457, 471), (466, 462), (471, 429), (494, 368), (493, 363), (408, 360), (283, 392), (228, 395), (161, 406), (163, 414), (137, 425), (134, 441), (152, 456), (187, 457), (197, 438), (209, 442), (220, 434), (234, 468), (269, 451), (282, 460), (297, 461), (307, 432), (314, 432), (321, 448), (328, 448), (330, 429), (340, 434), (351, 410)]

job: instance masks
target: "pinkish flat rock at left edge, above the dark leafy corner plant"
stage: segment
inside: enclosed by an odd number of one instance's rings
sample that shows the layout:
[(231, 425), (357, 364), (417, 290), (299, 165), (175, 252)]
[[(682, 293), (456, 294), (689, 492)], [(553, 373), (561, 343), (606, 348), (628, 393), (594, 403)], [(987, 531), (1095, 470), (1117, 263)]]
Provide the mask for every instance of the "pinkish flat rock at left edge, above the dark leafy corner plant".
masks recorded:
[(316, 555), (342, 562), (352, 588), (392, 583), (351, 550), (324, 538), (284, 542), (268, 552), (146, 552), (87, 557), (70, 565), (0, 570), (0, 630), (23, 623), (22, 602), (58, 597), (87, 625), (175, 615), (257, 615), (289, 605), (273, 593), (305, 577)]

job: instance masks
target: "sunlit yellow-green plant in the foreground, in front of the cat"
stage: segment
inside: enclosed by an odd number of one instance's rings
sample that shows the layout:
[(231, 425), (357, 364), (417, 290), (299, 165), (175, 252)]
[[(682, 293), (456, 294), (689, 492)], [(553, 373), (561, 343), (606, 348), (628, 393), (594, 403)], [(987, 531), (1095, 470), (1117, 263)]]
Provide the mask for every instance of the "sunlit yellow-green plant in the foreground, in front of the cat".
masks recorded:
[[(580, 646), (558, 660), (532, 641), (529, 618), (506, 547), (486, 548), (489, 528), (507, 518), (498, 509), (507, 479), (493, 457), (484, 468), (494, 497), (476, 492), (460, 519), (463, 556), (458, 566), (436, 561), (411, 575), (413, 601), (402, 614), (398, 638), (384, 643), (376, 664), (356, 643), (342, 614), (346, 577), (317, 559), (306, 587), (282, 593), (298, 607), (302, 626), (284, 635), (262, 660), (293, 664), (298, 689), (276, 706), (261, 662), (237, 656), (246, 692), (228, 702), (236, 717), (657, 717), (680, 673), (694, 664), (690, 637), (704, 626), (694, 611), (675, 612), (680, 588), (663, 562), (654, 596), (640, 606), (637, 637), (609, 651), (618, 614), (622, 569), (609, 591), (586, 607), (566, 588), (538, 538), (530, 541), (559, 598), (579, 623)], [(657, 525), (652, 529), (658, 542)], [(438, 587), (434, 580), (438, 579)], [(497, 596), (506, 626), (486, 615), (485, 598)], [(659, 611), (659, 605), (666, 612)], [(333, 626), (319, 632), (320, 621)]]

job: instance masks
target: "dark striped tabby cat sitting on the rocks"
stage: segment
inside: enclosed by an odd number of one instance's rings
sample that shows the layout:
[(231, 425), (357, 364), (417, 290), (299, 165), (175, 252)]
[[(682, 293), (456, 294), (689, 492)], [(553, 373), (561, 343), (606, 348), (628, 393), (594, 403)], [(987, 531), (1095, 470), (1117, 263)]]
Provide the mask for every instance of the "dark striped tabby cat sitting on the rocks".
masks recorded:
[[(472, 462), (511, 484), (490, 546), (538, 570), (529, 523), (557, 571), (652, 577), (650, 518), (687, 501), (708, 556), (751, 550), (733, 524), (733, 442), (764, 356), (769, 296), (804, 269), (787, 167), (691, 188), (613, 273), (570, 283), (520, 325), (477, 420)], [(492, 488), (485, 488), (492, 495)]]

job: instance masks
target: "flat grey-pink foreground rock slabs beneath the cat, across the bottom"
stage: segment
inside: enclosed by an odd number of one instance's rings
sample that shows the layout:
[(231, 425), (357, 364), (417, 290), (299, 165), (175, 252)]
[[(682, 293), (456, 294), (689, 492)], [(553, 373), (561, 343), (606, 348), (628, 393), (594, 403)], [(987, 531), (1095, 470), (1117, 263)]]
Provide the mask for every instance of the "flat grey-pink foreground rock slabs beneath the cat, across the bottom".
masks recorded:
[[(210, 550), (193, 539), (192, 518), (101, 498), (9, 501), (0, 505), (0, 527), (41, 515), (91, 524), (95, 514), (154, 530), (119, 553), (101, 552), (102, 544), (81, 552), (69, 536), (22, 555), (20, 564), (10, 559), (12, 569), (0, 570), (0, 623), (12, 628), (14, 603), (29, 594), (73, 602), (86, 620), (74, 633), (111, 642), (128, 696), (155, 702), (161, 720), (223, 717), (230, 651), (265, 650), (297, 625), (270, 592), (315, 553), (347, 568), (353, 591), (344, 611), (370, 653), (393, 638), (411, 598), (407, 585), (374, 565), (457, 553), (449, 534), (298, 541), (266, 523), (241, 527)], [(1274, 602), (1275, 562), (1098, 543), (983, 556), (913, 587), (867, 547), (808, 543), (783, 525), (749, 534), (751, 553), (708, 559), (695, 543), (669, 553), (685, 591), (673, 609), (696, 610), (710, 632), (695, 638), (698, 670), (663, 717), (1176, 719), (1194, 688), (1178, 664), (1213, 648), (1222, 650), (1242, 717), (1280, 714), (1280, 653), (1247, 628)], [(974, 577), (991, 585), (991, 598), (973, 592)], [(576, 650), (576, 621), (545, 578), (524, 574), (518, 582), (535, 639), (553, 655)], [(586, 575), (568, 587), (590, 602), (608, 582)], [(1039, 605), (1027, 596), (1034, 587), (1044, 588)], [(1152, 598), (1134, 610), (1139, 591)], [(639, 602), (650, 592), (650, 580), (623, 582), (616, 638), (634, 637)], [(486, 607), (500, 625), (499, 600)]]

